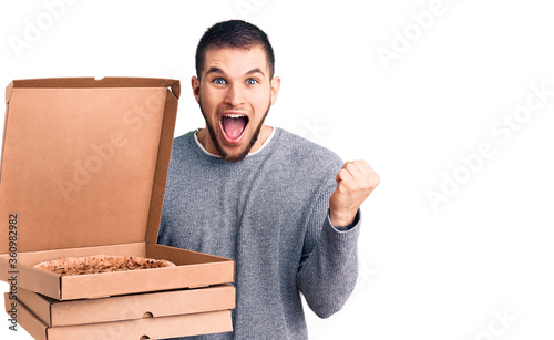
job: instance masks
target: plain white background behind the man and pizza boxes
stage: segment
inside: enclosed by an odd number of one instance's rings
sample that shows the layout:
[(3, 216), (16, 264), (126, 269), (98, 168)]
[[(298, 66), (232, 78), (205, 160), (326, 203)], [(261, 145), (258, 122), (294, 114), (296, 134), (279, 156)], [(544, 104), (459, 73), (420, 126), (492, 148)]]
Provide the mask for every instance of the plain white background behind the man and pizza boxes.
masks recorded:
[[(311, 339), (553, 339), (554, 95), (532, 90), (554, 91), (550, 1), (76, 0), (52, 16), (53, 2), (1, 2), (1, 86), (179, 79), (181, 135), (203, 126), (189, 91), (199, 37), (247, 19), (283, 79), (268, 124), (379, 173), (359, 285), (331, 318), (308, 315)], [(14, 48), (38, 20), (40, 35)], [(1, 339), (31, 339), (7, 319)]]

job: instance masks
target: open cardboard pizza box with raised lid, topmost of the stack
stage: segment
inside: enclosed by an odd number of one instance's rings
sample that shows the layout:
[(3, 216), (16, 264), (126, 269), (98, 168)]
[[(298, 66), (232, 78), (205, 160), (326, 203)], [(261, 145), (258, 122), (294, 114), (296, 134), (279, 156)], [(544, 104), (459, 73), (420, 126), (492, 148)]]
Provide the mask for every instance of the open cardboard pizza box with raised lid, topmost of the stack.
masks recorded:
[[(179, 83), (39, 79), (6, 91), (0, 279), (58, 300), (234, 281), (234, 260), (157, 245)], [(70, 256), (141, 256), (176, 267), (64, 276)]]

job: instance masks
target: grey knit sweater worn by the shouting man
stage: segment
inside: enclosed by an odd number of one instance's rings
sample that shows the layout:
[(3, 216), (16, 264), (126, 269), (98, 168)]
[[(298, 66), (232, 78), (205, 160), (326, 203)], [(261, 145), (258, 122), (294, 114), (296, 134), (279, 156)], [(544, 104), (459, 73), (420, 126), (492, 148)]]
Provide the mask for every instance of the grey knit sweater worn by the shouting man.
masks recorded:
[(360, 217), (347, 230), (330, 224), (341, 166), (280, 128), (237, 163), (207, 154), (193, 132), (174, 140), (158, 243), (236, 260), (234, 332), (187, 339), (307, 339), (300, 292), (321, 318), (342, 307)]

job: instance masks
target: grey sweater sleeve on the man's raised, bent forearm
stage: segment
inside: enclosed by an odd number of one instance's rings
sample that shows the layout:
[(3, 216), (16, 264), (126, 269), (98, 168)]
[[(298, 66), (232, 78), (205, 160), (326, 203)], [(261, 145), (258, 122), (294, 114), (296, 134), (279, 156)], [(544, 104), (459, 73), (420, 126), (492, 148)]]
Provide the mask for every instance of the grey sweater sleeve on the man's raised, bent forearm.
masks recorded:
[(320, 318), (330, 317), (342, 308), (358, 278), (360, 212), (351, 227), (335, 228), (328, 213), (335, 187), (332, 178), (312, 208), (297, 275), (298, 289)]

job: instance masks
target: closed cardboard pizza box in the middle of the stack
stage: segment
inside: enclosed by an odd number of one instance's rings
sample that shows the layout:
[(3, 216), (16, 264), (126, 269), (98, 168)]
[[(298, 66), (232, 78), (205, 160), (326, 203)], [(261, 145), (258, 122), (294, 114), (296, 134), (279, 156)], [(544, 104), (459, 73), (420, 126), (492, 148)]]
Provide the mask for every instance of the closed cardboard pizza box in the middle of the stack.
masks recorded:
[[(8, 293), (4, 299), (10, 300)], [(17, 300), (45, 326), (60, 327), (234, 309), (235, 287), (227, 284), (203, 289), (70, 301), (58, 301), (27, 289), (19, 289)]]

